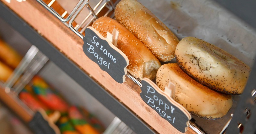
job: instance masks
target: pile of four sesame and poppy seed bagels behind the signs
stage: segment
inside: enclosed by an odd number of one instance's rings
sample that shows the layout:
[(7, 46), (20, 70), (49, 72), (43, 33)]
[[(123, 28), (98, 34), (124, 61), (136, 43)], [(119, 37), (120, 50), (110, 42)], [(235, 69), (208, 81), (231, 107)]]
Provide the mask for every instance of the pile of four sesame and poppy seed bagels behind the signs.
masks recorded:
[[(101, 35), (119, 31), (117, 48), (129, 59), (127, 70), (137, 78), (156, 79), (164, 90), (176, 85), (175, 101), (192, 115), (217, 119), (232, 106), (231, 95), (241, 94), (250, 68), (224, 50), (195, 37), (181, 41), (136, 0), (121, 0), (115, 18), (101, 17), (93, 24)], [(161, 62), (176, 58), (177, 63)]]

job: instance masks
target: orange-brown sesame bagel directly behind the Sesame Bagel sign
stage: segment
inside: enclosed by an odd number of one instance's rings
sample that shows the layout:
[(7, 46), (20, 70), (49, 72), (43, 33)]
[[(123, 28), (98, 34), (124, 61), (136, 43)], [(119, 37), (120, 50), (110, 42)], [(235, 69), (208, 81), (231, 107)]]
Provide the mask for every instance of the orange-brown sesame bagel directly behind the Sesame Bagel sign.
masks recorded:
[(116, 20), (109, 17), (97, 19), (92, 27), (95, 28), (103, 37), (107, 37), (107, 32), (112, 33), (113, 29), (119, 31), (117, 48), (124, 52), (129, 59), (127, 70), (137, 78), (156, 78), (156, 72), (161, 66), (157, 58), (150, 53), (131, 32)]

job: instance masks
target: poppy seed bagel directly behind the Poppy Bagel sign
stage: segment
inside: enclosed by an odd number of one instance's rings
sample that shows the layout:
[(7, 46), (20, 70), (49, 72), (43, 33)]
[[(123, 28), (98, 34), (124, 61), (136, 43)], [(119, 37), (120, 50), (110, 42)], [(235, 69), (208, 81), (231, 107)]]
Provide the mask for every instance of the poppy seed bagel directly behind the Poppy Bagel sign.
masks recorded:
[(177, 63), (162, 65), (156, 74), (156, 84), (164, 91), (169, 82), (175, 84), (176, 102), (192, 115), (217, 119), (226, 115), (233, 101), (231, 95), (222, 94), (203, 86), (182, 71)]

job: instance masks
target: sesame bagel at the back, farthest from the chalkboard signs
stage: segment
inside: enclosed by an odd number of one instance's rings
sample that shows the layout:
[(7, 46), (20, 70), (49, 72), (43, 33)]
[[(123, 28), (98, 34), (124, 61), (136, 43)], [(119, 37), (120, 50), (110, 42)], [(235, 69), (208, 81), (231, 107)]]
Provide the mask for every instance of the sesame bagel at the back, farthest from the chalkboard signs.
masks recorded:
[(122, 0), (116, 5), (115, 17), (158, 60), (167, 62), (174, 58), (179, 39), (142, 4), (136, 0)]

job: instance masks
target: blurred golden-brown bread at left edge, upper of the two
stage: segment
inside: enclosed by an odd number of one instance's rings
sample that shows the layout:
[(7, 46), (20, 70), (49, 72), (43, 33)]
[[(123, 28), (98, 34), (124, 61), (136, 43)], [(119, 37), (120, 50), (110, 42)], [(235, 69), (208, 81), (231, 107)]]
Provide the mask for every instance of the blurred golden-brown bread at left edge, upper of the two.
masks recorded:
[(4, 41), (0, 40), (0, 60), (15, 69), (22, 57)]

